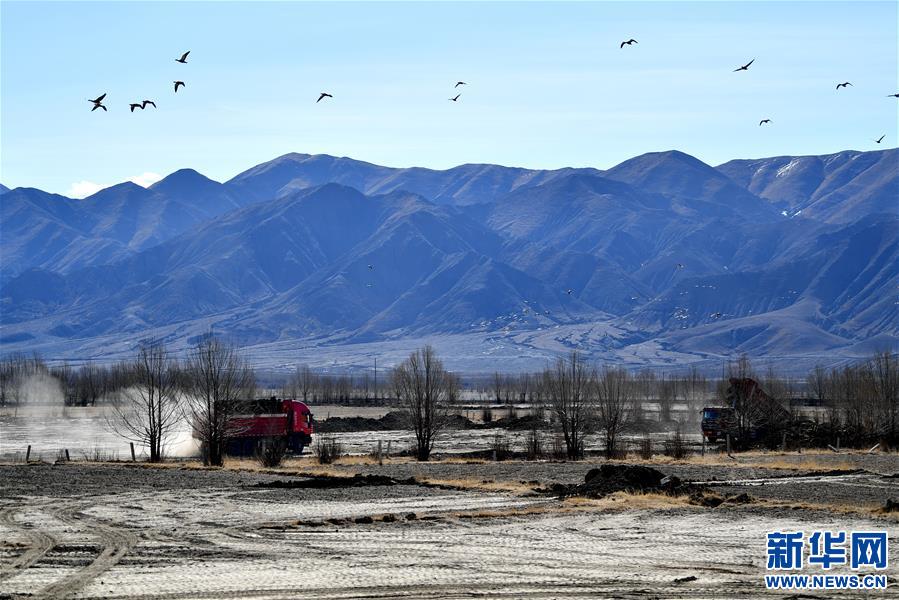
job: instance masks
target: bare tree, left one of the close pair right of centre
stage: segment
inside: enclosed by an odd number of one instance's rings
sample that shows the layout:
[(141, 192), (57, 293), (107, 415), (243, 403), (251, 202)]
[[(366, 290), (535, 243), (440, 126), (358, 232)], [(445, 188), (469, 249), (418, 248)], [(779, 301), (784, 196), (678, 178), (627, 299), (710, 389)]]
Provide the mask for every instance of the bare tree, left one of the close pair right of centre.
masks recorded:
[(584, 455), (585, 438), (593, 429), (595, 382), (596, 371), (587, 367), (577, 351), (543, 372), (543, 393), (572, 460)]

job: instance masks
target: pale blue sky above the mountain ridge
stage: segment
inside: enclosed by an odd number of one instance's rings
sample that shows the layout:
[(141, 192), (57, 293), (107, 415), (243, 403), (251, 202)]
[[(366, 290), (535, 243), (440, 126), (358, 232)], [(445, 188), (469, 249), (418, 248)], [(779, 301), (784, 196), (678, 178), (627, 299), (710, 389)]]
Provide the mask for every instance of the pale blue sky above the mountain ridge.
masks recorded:
[[(893, 147), (896, 23), (893, 1), (4, 0), (0, 182), (82, 196), (287, 152), (608, 168), (672, 148), (718, 164)], [(103, 92), (109, 112), (90, 112)], [(129, 113), (145, 98), (158, 110)]]

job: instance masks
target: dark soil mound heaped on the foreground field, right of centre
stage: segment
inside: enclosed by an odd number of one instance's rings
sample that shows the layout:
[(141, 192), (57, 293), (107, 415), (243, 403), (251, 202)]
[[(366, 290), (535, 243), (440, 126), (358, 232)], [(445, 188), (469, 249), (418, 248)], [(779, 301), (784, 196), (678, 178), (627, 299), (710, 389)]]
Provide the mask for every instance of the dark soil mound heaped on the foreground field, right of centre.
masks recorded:
[(602, 465), (590, 469), (584, 483), (575, 485), (554, 484), (543, 490), (560, 498), (583, 496), (602, 498), (615, 492), (659, 492), (679, 495), (695, 491), (695, 486), (686, 484), (675, 476), (666, 476), (652, 467), (642, 465)]

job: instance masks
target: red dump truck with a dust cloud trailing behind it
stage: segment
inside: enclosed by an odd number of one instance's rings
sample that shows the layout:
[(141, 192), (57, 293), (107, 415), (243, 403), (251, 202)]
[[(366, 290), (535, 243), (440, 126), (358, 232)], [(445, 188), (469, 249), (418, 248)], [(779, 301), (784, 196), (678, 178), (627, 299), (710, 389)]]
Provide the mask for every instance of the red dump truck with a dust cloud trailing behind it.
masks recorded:
[(228, 419), (227, 452), (252, 456), (266, 444), (278, 444), (300, 454), (312, 443), (312, 411), (299, 400), (272, 396), (245, 400)]

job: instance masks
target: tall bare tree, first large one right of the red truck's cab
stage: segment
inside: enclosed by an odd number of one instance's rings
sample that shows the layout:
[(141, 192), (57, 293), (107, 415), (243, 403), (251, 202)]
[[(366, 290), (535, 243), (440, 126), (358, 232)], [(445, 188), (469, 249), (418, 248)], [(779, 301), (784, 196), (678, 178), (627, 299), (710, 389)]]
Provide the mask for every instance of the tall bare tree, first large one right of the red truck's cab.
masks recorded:
[(446, 424), (447, 405), (458, 396), (459, 380), (443, 368), (431, 346), (416, 350), (394, 368), (392, 379), (397, 398), (411, 415), (415, 456), (428, 460)]

